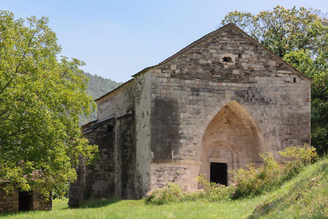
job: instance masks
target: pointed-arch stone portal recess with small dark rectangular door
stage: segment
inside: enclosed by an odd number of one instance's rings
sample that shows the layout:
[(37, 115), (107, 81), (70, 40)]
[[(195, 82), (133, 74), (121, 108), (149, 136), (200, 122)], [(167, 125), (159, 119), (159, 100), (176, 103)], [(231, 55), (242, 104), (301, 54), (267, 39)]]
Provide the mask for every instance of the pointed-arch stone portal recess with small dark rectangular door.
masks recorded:
[(227, 185), (228, 170), (259, 163), (265, 150), (263, 134), (254, 118), (237, 101), (223, 107), (208, 123), (202, 138), (200, 174)]

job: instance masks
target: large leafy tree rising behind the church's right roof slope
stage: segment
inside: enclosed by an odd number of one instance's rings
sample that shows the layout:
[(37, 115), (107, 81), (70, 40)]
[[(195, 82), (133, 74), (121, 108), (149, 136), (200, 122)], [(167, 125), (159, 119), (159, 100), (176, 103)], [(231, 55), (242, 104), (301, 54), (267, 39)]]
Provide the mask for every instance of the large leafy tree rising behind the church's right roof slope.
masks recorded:
[(319, 10), (277, 6), (257, 15), (230, 12), (221, 24), (239, 28), (312, 78), (311, 144), (328, 150), (328, 19)]

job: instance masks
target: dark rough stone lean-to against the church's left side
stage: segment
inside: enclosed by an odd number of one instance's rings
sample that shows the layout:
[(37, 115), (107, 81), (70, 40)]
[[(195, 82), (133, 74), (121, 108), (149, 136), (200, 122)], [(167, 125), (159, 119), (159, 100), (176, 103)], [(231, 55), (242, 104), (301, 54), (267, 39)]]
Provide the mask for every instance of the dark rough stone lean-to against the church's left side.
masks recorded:
[(85, 166), (84, 199), (121, 197), (140, 198), (135, 180), (136, 144), (134, 115), (127, 114), (101, 124), (85, 134), (98, 145), (99, 158)]

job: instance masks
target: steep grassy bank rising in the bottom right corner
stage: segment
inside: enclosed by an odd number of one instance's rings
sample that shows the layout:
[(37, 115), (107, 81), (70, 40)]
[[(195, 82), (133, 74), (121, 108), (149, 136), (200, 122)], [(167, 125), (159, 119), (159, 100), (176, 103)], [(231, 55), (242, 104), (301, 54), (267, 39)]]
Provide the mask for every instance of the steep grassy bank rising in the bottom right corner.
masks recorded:
[(328, 218), (328, 159), (307, 166), (272, 192), (249, 218)]

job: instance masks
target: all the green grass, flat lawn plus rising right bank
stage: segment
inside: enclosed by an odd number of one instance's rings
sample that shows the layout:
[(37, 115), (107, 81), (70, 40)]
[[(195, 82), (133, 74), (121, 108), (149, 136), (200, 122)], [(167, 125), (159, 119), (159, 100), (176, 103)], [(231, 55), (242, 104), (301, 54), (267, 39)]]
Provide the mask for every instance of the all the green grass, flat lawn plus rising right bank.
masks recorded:
[(146, 205), (143, 200), (89, 201), (69, 209), (54, 200), (50, 212), (2, 213), (0, 218), (328, 218), (328, 159), (306, 167), (276, 191), (228, 202), (204, 200)]

